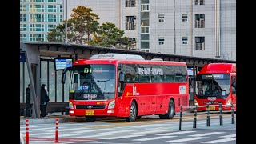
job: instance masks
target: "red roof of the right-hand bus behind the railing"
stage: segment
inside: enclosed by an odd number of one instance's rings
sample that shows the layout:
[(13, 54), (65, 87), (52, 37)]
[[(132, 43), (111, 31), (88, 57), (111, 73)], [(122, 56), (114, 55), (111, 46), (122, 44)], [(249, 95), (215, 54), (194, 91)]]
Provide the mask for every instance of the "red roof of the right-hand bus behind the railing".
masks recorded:
[(198, 74), (209, 73), (236, 73), (235, 63), (210, 63), (202, 66)]

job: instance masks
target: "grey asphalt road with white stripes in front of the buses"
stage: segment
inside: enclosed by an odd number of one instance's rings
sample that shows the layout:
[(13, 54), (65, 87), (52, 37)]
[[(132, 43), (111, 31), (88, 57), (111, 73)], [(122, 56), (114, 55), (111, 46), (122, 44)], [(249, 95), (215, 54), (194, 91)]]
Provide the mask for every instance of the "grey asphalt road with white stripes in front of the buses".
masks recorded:
[[(67, 122), (58, 125), (59, 143), (236, 143), (236, 125), (231, 124), (230, 115), (224, 116), (220, 126), (218, 115), (210, 118), (206, 126), (206, 115), (198, 116), (197, 128), (193, 128), (193, 116), (182, 120), (179, 130), (179, 118), (164, 120), (142, 118), (136, 122), (123, 119), (101, 120), (93, 123)], [(201, 118), (202, 117), (202, 118)], [(29, 126), (30, 143), (53, 143), (55, 141), (55, 123), (34, 124)], [(25, 135), (25, 126), (20, 130)]]

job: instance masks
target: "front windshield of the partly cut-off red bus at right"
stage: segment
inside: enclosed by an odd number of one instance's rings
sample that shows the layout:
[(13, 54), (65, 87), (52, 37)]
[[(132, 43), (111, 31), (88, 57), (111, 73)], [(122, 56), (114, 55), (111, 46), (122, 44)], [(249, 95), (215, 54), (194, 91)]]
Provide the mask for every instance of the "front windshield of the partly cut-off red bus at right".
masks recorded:
[(230, 94), (229, 74), (198, 74), (196, 77), (198, 98), (226, 98)]

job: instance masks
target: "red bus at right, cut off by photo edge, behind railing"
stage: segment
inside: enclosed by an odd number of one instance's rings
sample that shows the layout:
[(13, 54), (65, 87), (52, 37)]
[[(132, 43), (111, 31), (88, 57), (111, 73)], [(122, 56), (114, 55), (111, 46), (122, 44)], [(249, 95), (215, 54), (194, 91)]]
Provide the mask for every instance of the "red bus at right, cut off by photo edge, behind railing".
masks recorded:
[[(196, 106), (206, 106), (209, 110), (219, 110), (220, 103), (223, 110), (231, 110), (231, 104), (236, 104), (236, 64), (210, 63), (202, 67), (196, 75), (196, 89), (194, 103)], [(215, 106), (212, 106), (215, 105)], [(206, 107), (198, 107), (206, 110)], [(236, 106), (234, 106), (236, 110)]]

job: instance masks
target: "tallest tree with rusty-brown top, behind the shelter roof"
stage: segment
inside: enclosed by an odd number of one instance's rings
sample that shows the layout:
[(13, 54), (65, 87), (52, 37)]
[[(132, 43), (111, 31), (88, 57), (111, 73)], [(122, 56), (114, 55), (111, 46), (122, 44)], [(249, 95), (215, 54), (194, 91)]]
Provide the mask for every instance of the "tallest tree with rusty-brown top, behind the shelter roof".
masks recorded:
[(90, 34), (95, 33), (98, 28), (98, 15), (92, 13), (92, 10), (86, 6), (78, 6), (73, 12), (70, 19), (74, 26), (75, 42), (78, 44), (90, 42)]

